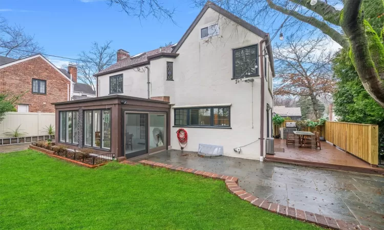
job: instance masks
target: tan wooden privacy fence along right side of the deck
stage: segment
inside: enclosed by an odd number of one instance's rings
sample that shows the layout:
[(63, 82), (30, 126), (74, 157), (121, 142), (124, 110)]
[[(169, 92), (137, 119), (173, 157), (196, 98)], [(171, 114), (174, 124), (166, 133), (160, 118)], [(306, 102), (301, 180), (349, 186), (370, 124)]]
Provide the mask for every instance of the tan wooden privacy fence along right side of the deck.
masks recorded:
[(378, 164), (378, 126), (346, 122), (325, 122), (325, 140), (365, 160)]

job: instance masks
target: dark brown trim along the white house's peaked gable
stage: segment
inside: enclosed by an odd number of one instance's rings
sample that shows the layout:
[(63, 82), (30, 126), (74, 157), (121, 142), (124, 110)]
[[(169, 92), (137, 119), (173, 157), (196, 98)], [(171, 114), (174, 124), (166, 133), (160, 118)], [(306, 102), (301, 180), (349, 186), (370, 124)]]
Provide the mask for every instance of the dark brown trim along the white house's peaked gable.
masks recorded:
[[(267, 36), (267, 33), (264, 31), (260, 30), (259, 28), (252, 26), (245, 20), (241, 19), (240, 17), (237, 17), (233, 15), (232, 13), (224, 10), (223, 8), (219, 7), (218, 5), (207, 2), (204, 6), (204, 8), (200, 11), (199, 15), (195, 18), (195, 20), (192, 22), (192, 24), (189, 26), (188, 30), (184, 33), (184, 35), (181, 37), (180, 41), (177, 43), (176, 47), (172, 50), (172, 53), (176, 53), (181, 45), (184, 43), (185, 39), (188, 37), (188, 35), (193, 31), (193, 29), (196, 27), (198, 24), (199, 20), (203, 17), (204, 13), (208, 10), (208, 8), (215, 10), (219, 14), (223, 15), (226, 18), (229, 18), (230, 20), (236, 22), (240, 26), (244, 27), (245, 29), (251, 31), (252, 33), (258, 35), (261, 38), (265, 38)], [(269, 36), (268, 36), (269, 37)]]

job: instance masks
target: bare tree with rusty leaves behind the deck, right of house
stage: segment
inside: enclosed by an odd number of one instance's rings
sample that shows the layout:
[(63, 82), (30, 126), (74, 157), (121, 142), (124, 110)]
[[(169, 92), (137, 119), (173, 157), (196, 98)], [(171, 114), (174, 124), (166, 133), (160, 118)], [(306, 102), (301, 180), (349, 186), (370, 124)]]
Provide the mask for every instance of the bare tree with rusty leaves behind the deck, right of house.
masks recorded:
[(305, 40), (291, 35), (274, 49), (274, 94), (309, 97), (316, 119), (322, 116), (318, 98), (329, 97), (336, 84), (331, 67), (333, 53), (325, 48), (327, 42), (324, 36)]

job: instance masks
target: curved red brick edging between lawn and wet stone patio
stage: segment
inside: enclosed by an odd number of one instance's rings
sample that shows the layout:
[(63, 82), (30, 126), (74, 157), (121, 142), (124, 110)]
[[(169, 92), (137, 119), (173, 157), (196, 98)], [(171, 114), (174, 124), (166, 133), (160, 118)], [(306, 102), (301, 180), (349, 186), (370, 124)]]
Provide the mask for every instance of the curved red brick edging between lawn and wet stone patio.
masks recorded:
[[(134, 165), (134, 162), (131, 162), (130, 160), (124, 160), (125, 164)], [(362, 225), (356, 225), (354, 223), (349, 223), (344, 220), (336, 220), (332, 217), (325, 217), (320, 214), (314, 214), (310, 212), (306, 212), (303, 210), (295, 209), (292, 207), (287, 207), (282, 204), (273, 203), (268, 200), (258, 198), (253, 196), (251, 193), (248, 193), (247, 191), (243, 190), (239, 186), (239, 178), (234, 176), (226, 176), (221, 175), (213, 172), (205, 172), (201, 170), (196, 169), (190, 169), (190, 168), (183, 168), (179, 166), (174, 165), (167, 165), (163, 163), (156, 163), (152, 162), (150, 160), (140, 160), (139, 162), (142, 165), (145, 166), (151, 166), (151, 167), (159, 167), (159, 168), (166, 168), (173, 171), (183, 171), (187, 173), (193, 173), (196, 175), (203, 176), (205, 178), (212, 178), (212, 179), (219, 179), (225, 181), (225, 186), (229, 190), (230, 193), (240, 197), (242, 200), (245, 200), (254, 206), (258, 206), (259, 208), (262, 208), (264, 210), (267, 210), (272, 213), (276, 213), (282, 216), (290, 217), (292, 219), (297, 219), (301, 221), (305, 221), (308, 223), (317, 224), (322, 227), (331, 228), (331, 229), (360, 229), (360, 230), (366, 230), (371, 229), (366, 226)]]

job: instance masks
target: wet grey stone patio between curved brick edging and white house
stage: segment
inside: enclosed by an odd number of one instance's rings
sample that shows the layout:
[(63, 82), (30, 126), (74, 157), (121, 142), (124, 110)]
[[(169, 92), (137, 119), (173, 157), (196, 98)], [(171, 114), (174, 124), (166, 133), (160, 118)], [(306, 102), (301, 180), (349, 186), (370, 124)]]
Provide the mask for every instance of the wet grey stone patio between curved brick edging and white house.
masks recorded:
[(234, 157), (202, 158), (194, 152), (163, 151), (135, 158), (239, 177), (254, 196), (296, 209), (384, 229), (384, 177), (259, 162)]

